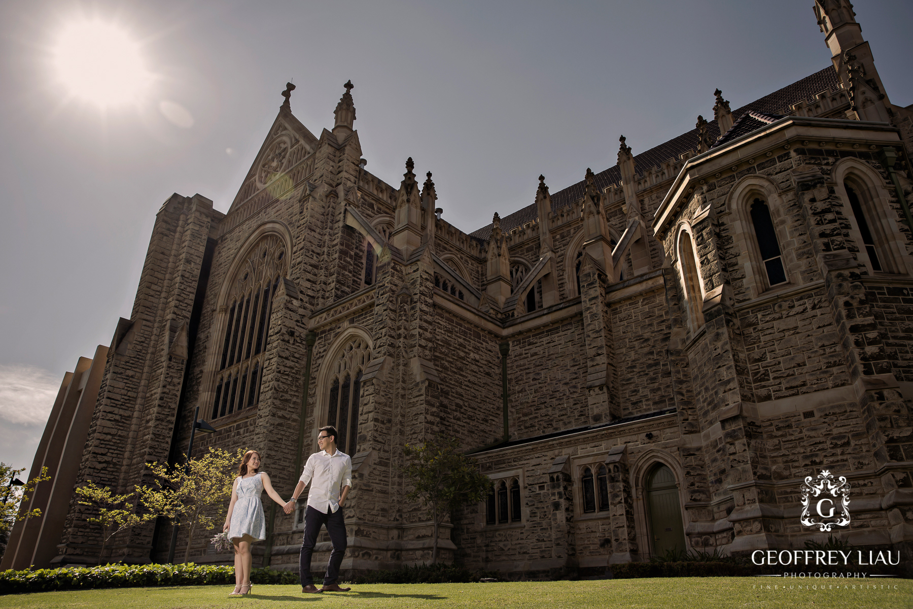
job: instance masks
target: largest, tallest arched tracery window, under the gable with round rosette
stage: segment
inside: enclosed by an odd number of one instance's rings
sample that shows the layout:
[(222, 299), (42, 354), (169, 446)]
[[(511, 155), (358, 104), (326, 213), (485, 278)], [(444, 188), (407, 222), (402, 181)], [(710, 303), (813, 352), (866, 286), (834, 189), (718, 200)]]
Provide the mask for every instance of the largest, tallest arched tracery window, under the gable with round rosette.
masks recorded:
[(244, 263), (231, 279), (219, 372), (215, 375), (214, 419), (259, 402), (273, 295), (287, 268), (285, 242), (277, 235), (267, 235), (247, 251)]

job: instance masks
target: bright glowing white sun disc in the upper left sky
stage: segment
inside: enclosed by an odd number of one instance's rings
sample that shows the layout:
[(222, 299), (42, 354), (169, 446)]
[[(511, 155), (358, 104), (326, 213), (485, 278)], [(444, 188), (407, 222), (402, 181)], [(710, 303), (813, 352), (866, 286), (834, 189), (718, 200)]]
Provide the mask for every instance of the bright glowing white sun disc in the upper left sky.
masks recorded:
[(101, 108), (139, 100), (152, 81), (140, 44), (121, 27), (99, 20), (64, 26), (53, 56), (69, 92)]

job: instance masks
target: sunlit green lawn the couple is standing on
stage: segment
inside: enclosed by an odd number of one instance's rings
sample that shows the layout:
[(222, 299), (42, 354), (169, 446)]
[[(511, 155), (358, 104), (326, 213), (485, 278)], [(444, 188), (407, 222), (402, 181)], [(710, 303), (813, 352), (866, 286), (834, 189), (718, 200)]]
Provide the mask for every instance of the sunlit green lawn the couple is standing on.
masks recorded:
[[(784, 589), (785, 584), (785, 589)], [(790, 586), (792, 585), (792, 589)], [(352, 586), (350, 593), (302, 594), (297, 585), (255, 585), (249, 597), (228, 598), (231, 586), (120, 588), (11, 594), (0, 608), (191, 609), (209, 607), (624, 607), (624, 609), (700, 609), (708, 607), (910, 607), (913, 581), (782, 580), (766, 577), (595, 580), (522, 583), (374, 583)], [(805, 586), (809, 589), (806, 589)], [(818, 590), (812, 586), (817, 585)], [(840, 589), (836, 589), (839, 585)], [(852, 586), (856, 586), (854, 590)], [(768, 586), (770, 586), (768, 588)], [(779, 587), (775, 587), (779, 586)], [(824, 586), (824, 589), (822, 589)], [(827, 586), (834, 586), (827, 589)], [(848, 586), (844, 589), (844, 586)], [(897, 589), (895, 589), (897, 586)]]

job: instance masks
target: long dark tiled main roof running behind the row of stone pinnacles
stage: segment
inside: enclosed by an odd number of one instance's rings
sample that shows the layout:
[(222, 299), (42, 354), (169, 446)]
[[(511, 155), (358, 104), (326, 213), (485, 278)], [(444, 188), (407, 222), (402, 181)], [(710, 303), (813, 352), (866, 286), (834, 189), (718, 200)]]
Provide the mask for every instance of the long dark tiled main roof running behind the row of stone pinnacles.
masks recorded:
[[(749, 112), (751, 110), (765, 116), (787, 114), (789, 112), (789, 107), (792, 106), (792, 104), (803, 100), (811, 101), (815, 95), (822, 91), (839, 89), (839, 82), (834, 67), (828, 66), (820, 72), (815, 72), (812, 76), (807, 76), (802, 80), (793, 82), (792, 85), (773, 91), (770, 95), (765, 95), (760, 100), (754, 100), (750, 104), (746, 104), (741, 108), (734, 110), (732, 115), (736, 117), (736, 124), (733, 124), (732, 130), (737, 129), (737, 126), (738, 130), (736, 132), (729, 130), (725, 141), (740, 137), (745, 133), (759, 129), (761, 125), (766, 124), (766, 122), (761, 121), (758, 117), (750, 116)], [(741, 121), (740, 119), (743, 115), (749, 118)], [(751, 127), (753, 128), (750, 129)], [(719, 136), (717, 121), (709, 121), (707, 131), (710, 139), (716, 140)], [(697, 149), (698, 130), (692, 129), (655, 148), (636, 154), (634, 157), (635, 169), (637, 173), (643, 175), (644, 171), (649, 167), (659, 166), (670, 158), (677, 157), (682, 152)], [(614, 165), (603, 172), (596, 173), (596, 186), (602, 190), (609, 184), (618, 184), (621, 179), (621, 171), (619, 171), (618, 165)], [(581, 181), (552, 194), (551, 211), (554, 212), (565, 205), (571, 205), (573, 201), (580, 199), (583, 196), (585, 186), (586, 182)], [(523, 207), (513, 214), (505, 215), (501, 218), (501, 230), (503, 232), (508, 232), (517, 226), (532, 222), (538, 217), (539, 212), (536, 209), (535, 204)], [(470, 233), (469, 236), (487, 241), (488, 238), (491, 237), (491, 225), (483, 226), (477, 231)]]

